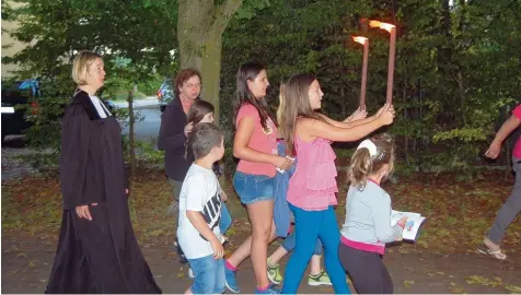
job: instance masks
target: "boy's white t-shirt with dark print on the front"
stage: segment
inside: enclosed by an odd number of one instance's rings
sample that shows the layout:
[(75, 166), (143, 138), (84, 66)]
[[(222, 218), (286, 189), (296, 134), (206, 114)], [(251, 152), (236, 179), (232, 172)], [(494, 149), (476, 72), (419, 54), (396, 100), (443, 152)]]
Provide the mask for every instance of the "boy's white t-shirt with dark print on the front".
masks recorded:
[(177, 238), (187, 259), (197, 259), (213, 255), (209, 241), (194, 227), (186, 211), (199, 211), (216, 236), (221, 236), (221, 197), (219, 180), (211, 169), (192, 164), (186, 174), (180, 194), (180, 222)]

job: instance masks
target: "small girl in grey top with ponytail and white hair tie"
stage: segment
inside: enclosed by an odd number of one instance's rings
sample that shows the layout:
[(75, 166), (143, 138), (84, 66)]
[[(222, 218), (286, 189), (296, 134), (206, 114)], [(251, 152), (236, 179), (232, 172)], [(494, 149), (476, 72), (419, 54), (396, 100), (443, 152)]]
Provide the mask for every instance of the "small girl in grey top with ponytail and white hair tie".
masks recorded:
[(392, 294), (382, 256), (385, 243), (402, 239), (406, 222), (391, 226), (391, 197), (380, 187), (393, 170), (393, 139), (384, 133), (362, 141), (350, 163), (338, 256), (359, 294)]

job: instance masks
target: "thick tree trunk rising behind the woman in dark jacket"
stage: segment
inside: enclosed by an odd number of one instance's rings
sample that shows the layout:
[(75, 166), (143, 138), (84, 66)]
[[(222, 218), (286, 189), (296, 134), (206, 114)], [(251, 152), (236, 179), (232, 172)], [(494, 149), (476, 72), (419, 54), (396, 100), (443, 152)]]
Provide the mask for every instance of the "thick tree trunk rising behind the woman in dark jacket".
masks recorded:
[(242, 0), (180, 0), (177, 40), (181, 68), (194, 68), (202, 78), (201, 97), (210, 102), (219, 123), (219, 82), (221, 72), (222, 34)]

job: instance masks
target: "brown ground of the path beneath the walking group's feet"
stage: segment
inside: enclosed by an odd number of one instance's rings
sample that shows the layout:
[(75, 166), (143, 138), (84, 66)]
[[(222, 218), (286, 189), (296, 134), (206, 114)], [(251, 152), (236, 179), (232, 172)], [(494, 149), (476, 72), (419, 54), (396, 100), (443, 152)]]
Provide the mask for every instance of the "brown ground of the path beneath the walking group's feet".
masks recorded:
[[(57, 233), (55, 237), (57, 238)], [(192, 281), (186, 274), (186, 266), (177, 262), (174, 252), (169, 247), (155, 244), (141, 243), (140, 246), (163, 293), (184, 293)], [(230, 249), (230, 246), (225, 247)], [(400, 248), (396, 248), (398, 247), (386, 250), (384, 261), (397, 294), (505, 294), (518, 293), (514, 291), (520, 287), (521, 260), (518, 256), (499, 261), (475, 253), (401, 253)], [(274, 250), (275, 247), (270, 247), (269, 252)], [(49, 279), (55, 251), (56, 244), (48, 238), (2, 235), (2, 293), (43, 293)], [(288, 257), (281, 261), (282, 272), (287, 259)], [(243, 293), (253, 292), (254, 278), (251, 260), (246, 259), (238, 272)], [(309, 286), (304, 278), (299, 293), (332, 294), (333, 288)]]

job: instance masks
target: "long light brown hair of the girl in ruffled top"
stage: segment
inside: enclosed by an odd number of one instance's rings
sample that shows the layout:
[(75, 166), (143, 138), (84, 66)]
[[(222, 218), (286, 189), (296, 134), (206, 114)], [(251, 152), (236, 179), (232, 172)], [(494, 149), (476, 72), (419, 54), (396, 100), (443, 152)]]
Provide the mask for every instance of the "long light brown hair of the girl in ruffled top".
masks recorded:
[[(296, 156), (294, 132), (298, 118), (313, 118), (324, 120), (313, 110), (310, 103), (309, 88), (316, 78), (300, 73), (292, 75), (281, 87), (281, 104), (279, 118), (279, 130), (286, 141), (286, 154)], [(282, 115), (283, 114), (283, 115)]]

